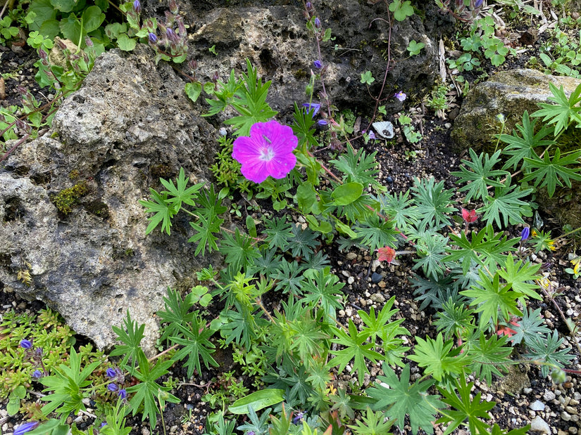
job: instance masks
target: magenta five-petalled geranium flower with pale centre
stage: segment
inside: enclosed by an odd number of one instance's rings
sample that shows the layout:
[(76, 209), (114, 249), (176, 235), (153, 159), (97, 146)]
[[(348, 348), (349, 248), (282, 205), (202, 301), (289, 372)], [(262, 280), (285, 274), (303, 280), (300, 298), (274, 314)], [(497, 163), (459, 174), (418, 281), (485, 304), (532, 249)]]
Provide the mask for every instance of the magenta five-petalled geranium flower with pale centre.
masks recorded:
[(299, 139), (289, 126), (277, 121), (256, 122), (250, 136), (234, 141), (232, 157), (242, 164), (242, 175), (254, 183), (262, 183), (270, 175), (285, 178), (296, 165), (292, 153)]

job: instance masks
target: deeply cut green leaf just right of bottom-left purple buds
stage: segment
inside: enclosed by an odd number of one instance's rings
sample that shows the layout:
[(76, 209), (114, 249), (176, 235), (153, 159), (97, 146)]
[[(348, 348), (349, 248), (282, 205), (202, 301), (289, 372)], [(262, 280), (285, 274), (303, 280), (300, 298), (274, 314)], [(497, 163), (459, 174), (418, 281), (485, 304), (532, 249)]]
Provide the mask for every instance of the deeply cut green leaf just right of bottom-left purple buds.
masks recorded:
[(159, 408), (163, 411), (165, 402), (180, 403), (179, 398), (168, 393), (170, 387), (161, 387), (156, 382), (157, 379), (168, 373), (168, 369), (175, 361), (168, 360), (162, 362), (158, 360), (156, 365), (150, 368), (149, 361), (147, 361), (147, 357), (143, 351), (139, 352), (137, 359), (139, 361), (139, 368), (132, 368), (129, 365), (125, 365), (125, 370), (139, 381), (139, 384), (127, 387), (127, 393), (135, 393), (129, 401), (129, 410), (135, 415), (142, 409), (142, 421), (146, 417), (149, 418), (149, 424), (154, 429), (157, 423), (157, 414), (160, 412)]

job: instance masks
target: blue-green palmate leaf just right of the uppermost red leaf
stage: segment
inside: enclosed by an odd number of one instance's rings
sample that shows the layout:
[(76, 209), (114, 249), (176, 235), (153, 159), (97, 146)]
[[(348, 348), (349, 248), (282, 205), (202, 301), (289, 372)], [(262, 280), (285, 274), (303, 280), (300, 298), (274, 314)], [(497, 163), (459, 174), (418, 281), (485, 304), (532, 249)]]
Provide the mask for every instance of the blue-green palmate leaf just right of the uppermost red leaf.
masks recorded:
[[(523, 201), (522, 198), (530, 193), (532, 193), (532, 188), (521, 190), (520, 186), (511, 186), (511, 176), (507, 176), (504, 186), (494, 188), (494, 197), (490, 195), (485, 197), (484, 207), (477, 209), (477, 212), (484, 213), (482, 220), (486, 221), (487, 225), (496, 222), (498, 228), (508, 226), (508, 222), (525, 223), (523, 216), (532, 216), (532, 211), (529, 202)], [(501, 217), (504, 226), (501, 223)]]

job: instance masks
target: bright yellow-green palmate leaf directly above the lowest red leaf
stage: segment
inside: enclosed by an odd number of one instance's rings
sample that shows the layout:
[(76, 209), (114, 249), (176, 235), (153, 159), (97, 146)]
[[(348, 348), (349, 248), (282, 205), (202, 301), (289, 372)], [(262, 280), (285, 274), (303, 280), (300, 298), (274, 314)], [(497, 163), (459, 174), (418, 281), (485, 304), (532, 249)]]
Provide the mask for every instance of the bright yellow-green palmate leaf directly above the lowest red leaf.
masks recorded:
[(481, 330), (485, 330), (491, 324), (496, 326), (499, 311), (502, 320), (510, 318), (511, 315), (522, 315), (516, 306), (520, 294), (511, 291), (510, 284), (501, 284), (499, 273), (495, 273), (492, 280), (482, 269), (478, 271), (478, 274), (480, 275), (478, 286), (473, 286), (470, 290), (464, 290), (460, 293), (473, 298), (470, 305), (477, 306), (476, 312), (480, 313)]

